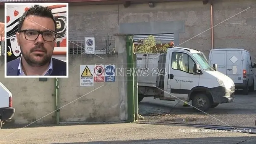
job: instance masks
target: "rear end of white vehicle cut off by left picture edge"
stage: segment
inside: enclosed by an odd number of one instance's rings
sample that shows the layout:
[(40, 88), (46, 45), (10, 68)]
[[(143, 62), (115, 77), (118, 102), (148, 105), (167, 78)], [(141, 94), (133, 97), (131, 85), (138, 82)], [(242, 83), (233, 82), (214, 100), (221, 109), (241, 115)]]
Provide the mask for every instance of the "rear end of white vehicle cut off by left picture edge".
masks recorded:
[(14, 116), (12, 100), (11, 92), (0, 82), (0, 129)]

